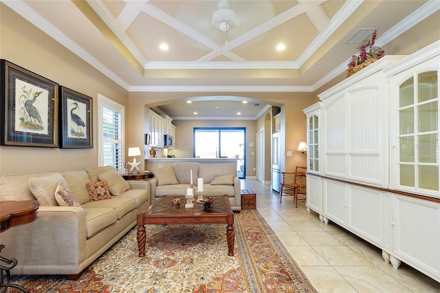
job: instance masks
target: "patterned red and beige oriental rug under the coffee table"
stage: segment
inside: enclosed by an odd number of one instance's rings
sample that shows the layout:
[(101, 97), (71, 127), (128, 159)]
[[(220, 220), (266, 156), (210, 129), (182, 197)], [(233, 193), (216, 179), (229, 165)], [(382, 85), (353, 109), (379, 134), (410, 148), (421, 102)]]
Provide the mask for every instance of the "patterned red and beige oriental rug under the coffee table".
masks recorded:
[(150, 225), (146, 257), (137, 257), (133, 228), (77, 281), (12, 276), (11, 283), (32, 293), (316, 292), (257, 210), (235, 214), (234, 226), (234, 257), (225, 225)]

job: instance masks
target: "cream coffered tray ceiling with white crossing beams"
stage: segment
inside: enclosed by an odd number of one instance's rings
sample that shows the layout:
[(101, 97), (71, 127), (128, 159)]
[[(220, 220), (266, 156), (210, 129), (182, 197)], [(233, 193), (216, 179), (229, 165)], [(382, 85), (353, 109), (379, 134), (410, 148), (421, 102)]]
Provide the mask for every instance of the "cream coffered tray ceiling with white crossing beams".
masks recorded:
[[(313, 91), (344, 72), (371, 35), (358, 30), (377, 29), (382, 46), (439, 10), (436, 0), (223, 1), (2, 0), (128, 91), (186, 91), (210, 102), (239, 100), (228, 92)], [(223, 32), (212, 14), (225, 2), (236, 19)]]

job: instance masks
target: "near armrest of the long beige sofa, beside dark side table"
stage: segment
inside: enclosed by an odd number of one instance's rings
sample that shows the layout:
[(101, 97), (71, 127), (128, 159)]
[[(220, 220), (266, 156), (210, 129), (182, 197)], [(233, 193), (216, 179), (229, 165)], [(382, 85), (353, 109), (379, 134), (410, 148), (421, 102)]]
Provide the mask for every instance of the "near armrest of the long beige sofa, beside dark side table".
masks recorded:
[(39, 266), (76, 266), (86, 258), (85, 210), (73, 206), (40, 206), (37, 219), (1, 233), (3, 257), (15, 258), (21, 267), (38, 274)]

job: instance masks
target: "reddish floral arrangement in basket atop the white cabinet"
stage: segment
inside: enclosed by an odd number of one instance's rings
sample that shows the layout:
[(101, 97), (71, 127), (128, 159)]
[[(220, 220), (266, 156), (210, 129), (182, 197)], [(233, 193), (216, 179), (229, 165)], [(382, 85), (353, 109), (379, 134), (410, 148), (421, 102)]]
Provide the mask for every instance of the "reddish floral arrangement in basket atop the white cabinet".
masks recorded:
[(376, 37), (377, 31), (375, 30), (373, 36), (371, 36), (371, 40), (365, 39), (360, 43), (360, 46), (358, 47), (359, 55), (353, 55), (348, 64), (349, 69), (347, 69), (347, 77), (355, 74), (360, 69), (367, 67), (384, 56), (385, 52), (382, 50), (382, 47), (373, 47)]

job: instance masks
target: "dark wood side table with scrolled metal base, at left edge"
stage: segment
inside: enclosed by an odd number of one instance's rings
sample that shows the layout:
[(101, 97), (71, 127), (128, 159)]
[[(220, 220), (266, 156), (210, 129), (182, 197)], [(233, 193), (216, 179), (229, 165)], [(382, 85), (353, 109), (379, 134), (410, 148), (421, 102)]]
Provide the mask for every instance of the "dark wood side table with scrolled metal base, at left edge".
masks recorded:
[[(28, 224), (36, 220), (36, 210), (39, 209), (39, 202), (36, 200), (25, 200), (22, 202), (0, 202), (0, 232), (4, 232), (11, 227)], [(0, 252), (5, 246), (0, 244)], [(5, 263), (5, 265), (3, 265)], [(5, 292), (8, 287), (15, 288), (22, 292), (28, 292), (19, 285), (11, 284), (10, 270), (17, 265), (17, 259), (6, 259), (0, 256), (0, 292)], [(3, 277), (5, 279), (3, 280)]]

